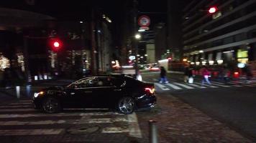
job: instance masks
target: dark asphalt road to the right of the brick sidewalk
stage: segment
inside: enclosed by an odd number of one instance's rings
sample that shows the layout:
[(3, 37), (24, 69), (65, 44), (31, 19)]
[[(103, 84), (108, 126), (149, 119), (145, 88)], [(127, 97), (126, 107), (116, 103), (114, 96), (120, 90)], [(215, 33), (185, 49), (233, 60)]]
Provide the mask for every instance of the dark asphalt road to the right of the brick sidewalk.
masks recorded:
[[(159, 74), (145, 73), (142, 77), (148, 82), (156, 83)], [(180, 74), (168, 74), (170, 84), (173, 82), (184, 84), (182, 77), (183, 75)], [(196, 79), (196, 82), (200, 83), (200, 80)], [(222, 83), (216, 85), (225, 86)], [(156, 88), (159, 94), (168, 92), (210, 117), (227, 124), (245, 137), (256, 140), (256, 84), (227, 84), (227, 86), (164, 91)]]

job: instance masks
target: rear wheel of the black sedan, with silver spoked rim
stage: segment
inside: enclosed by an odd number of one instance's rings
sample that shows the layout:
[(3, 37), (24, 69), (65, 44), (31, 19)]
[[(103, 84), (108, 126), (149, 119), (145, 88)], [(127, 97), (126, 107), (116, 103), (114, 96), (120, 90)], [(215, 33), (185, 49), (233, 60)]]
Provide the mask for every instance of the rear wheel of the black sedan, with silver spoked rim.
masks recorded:
[(132, 114), (134, 112), (135, 102), (132, 97), (122, 97), (117, 103), (117, 111), (122, 114)]

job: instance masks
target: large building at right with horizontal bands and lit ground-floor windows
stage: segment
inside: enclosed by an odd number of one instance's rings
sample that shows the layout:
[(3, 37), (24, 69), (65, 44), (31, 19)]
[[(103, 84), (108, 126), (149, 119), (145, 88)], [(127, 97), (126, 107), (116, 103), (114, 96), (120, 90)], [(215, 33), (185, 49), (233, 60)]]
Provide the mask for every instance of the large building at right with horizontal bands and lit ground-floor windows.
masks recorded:
[[(212, 6), (217, 10), (209, 14)], [(183, 57), (195, 66), (253, 66), (255, 7), (255, 0), (191, 1), (183, 9)]]

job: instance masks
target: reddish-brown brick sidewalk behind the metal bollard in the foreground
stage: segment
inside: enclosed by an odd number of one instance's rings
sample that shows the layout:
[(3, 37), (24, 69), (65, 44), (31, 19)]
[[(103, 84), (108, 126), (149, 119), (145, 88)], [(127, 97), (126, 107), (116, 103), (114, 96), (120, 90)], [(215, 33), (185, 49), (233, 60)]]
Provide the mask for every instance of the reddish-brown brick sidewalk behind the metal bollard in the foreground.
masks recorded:
[(144, 137), (148, 122), (157, 121), (158, 140), (168, 142), (252, 142), (227, 125), (170, 95), (157, 97), (157, 107), (137, 114)]

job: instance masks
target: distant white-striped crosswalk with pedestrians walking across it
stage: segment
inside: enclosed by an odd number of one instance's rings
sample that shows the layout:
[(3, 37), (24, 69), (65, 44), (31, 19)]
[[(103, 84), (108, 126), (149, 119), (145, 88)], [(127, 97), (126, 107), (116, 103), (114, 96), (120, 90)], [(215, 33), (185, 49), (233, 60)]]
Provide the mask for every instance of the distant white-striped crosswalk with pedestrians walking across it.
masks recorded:
[(246, 82), (237, 82), (231, 81), (227, 84), (222, 82), (212, 82), (211, 85), (205, 83), (203, 86), (201, 82), (194, 81), (193, 84), (188, 84), (178, 81), (170, 81), (168, 84), (160, 84), (157, 82), (157, 79), (153, 79), (156, 87), (156, 91), (175, 91), (182, 89), (209, 89), (209, 88), (232, 88), (232, 87), (256, 87), (256, 84), (246, 83)]

